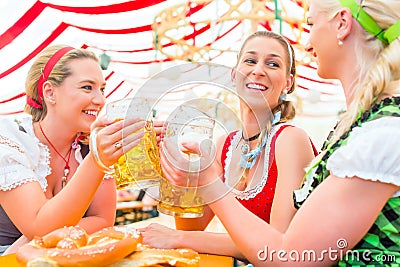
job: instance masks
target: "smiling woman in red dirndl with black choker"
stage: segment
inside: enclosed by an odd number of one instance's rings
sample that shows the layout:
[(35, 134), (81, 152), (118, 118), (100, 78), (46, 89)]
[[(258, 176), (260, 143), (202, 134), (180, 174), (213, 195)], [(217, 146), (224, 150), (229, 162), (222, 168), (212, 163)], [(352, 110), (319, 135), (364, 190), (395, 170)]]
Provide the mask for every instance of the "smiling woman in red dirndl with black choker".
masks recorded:
[[(267, 31), (251, 34), (231, 72), (240, 98), (242, 129), (223, 136), (216, 145), (216, 164), (223, 169), (221, 180), (230, 187), (235, 203), (280, 231), (286, 230), (296, 211), (292, 192), (315, 153), (307, 134), (287, 123), (295, 115), (293, 104), (285, 98), (294, 90), (295, 74), (293, 48), (283, 36)], [(168, 143), (164, 144), (168, 149)], [(165, 168), (163, 174), (173, 177), (174, 169)], [(149, 225), (141, 229), (143, 242), (245, 258), (228, 234), (194, 231), (204, 230), (213, 217), (206, 206), (201, 218), (176, 218), (177, 229), (190, 231)], [(241, 231), (246, 233), (250, 228), (243, 224)]]

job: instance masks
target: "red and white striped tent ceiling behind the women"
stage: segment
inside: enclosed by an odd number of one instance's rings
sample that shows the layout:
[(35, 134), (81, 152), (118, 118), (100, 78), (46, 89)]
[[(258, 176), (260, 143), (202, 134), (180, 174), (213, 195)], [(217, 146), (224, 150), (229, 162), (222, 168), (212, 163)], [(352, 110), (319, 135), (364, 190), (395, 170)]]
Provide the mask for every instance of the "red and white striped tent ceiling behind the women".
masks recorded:
[[(231, 68), (246, 36), (270, 30), (283, 34), (295, 47), (294, 124), (320, 147), (345, 103), (340, 84), (320, 79), (315, 62), (304, 52), (309, 32), (306, 11), (302, 0), (3, 0), (0, 115), (23, 114), (26, 74), (32, 60), (51, 44), (94, 51), (107, 80), (107, 101), (113, 101), (135, 95), (160, 72), (165, 80), (179, 79), (185, 71), (179, 66), (187, 62)], [(174, 106), (195, 87), (164, 100)]]

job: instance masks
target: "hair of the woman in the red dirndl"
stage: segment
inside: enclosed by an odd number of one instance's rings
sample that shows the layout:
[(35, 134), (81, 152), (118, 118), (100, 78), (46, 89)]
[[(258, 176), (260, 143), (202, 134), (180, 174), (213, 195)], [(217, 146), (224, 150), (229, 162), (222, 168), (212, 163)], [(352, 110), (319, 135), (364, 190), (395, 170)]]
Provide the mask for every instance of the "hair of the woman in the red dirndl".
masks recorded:
[[(293, 77), (296, 77), (296, 61), (295, 61), (295, 54), (292, 45), (283, 37), (282, 35), (271, 32), (271, 31), (257, 31), (251, 35), (249, 35), (243, 42), (241, 49), (239, 50), (238, 53), (238, 61), (240, 57), (242, 56), (243, 53), (243, 48), (247, 44), (248, 41), (251, 39), (254, 39), (256, 37), (261, 37), (261, 38), (270, 38), (270, 39), (275, 39), (277, 40), (283, 48), (285, 48), (286, 51), (286, 75), (289, 77), (290, 75), (293, 75)], [(294, 89), (296, 87), (295, 82), (293, 81), (292, 86), (288, 90), (288, 94), (293, 93)], [(291, 101), (286, 101), (286, 100), (279, 100), (278, 106), (276, 106), (274, 109), (272, 109), (272, 113), (276, 113), (278, 111), (281, 111), (281, 119), (280, 122), (286, 122), (294, 118), (296, 115), (296, 110)]]

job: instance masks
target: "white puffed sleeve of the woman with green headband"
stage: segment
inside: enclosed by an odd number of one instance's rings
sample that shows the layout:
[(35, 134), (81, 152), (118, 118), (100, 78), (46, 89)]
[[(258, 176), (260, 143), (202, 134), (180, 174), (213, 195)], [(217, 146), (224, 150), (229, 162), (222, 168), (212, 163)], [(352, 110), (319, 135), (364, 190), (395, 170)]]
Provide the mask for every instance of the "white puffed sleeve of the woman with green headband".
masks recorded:
[(327, 169), (338, 177), (400, 186), (399, 162), (400, 118), (385, 117), (354, 128), (347, 144), (328, 159)]

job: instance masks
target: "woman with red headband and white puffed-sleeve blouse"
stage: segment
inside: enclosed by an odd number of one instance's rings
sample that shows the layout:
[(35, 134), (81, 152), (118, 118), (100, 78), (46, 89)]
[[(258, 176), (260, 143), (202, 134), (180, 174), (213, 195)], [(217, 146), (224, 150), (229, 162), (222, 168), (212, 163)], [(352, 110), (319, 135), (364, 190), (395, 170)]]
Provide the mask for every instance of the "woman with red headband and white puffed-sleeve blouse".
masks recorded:
[[(143, 133), (133, 132), (143, 122), (98, 118), (104, 88), (90, 51), (51, 46), (34, 61), (26, 79), (30, 116), (0, 119), (0, 254), (19, 238), (15, 247), (63, 226), (92, 233), (114, 224), (115, 181), (99, 166), (123, 154), (115, 144), (136, 145)], [(85, 139), (99, 126), (92, 155)], [(122, 142), (122, 130), (133, 133), (130, 140)]]

